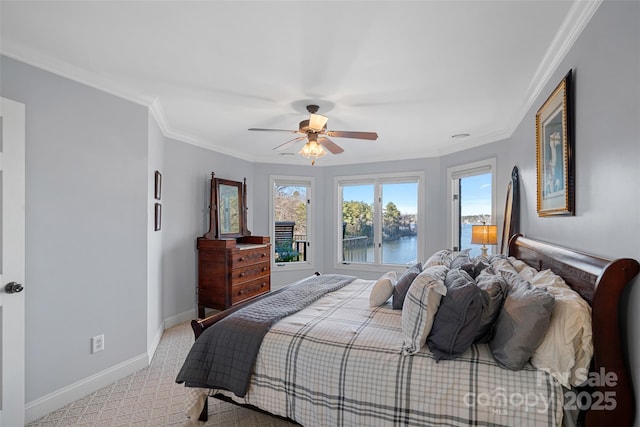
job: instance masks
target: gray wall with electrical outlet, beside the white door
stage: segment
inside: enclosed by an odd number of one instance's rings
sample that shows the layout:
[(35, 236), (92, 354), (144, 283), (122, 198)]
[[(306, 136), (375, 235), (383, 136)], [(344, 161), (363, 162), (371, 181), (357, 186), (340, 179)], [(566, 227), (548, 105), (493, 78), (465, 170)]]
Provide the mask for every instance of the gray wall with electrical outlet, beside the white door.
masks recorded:
[[(146, 352), (147, 109), (2, 57), (26, 107), (26, 401)], [(104, 334), (105, 350), (90, 353)]]

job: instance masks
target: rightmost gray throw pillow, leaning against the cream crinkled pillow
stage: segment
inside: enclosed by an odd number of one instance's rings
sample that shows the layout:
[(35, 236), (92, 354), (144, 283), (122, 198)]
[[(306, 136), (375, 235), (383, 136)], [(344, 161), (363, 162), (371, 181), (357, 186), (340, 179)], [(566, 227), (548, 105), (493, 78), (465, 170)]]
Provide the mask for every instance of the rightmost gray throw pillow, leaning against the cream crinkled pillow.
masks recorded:
[(503, 275), (509, 286), (500, 315), (493, 327), (489, 348), (505, 368), (520, 370), (542, 342), (551, 318), (555, 298), (543, 287)]

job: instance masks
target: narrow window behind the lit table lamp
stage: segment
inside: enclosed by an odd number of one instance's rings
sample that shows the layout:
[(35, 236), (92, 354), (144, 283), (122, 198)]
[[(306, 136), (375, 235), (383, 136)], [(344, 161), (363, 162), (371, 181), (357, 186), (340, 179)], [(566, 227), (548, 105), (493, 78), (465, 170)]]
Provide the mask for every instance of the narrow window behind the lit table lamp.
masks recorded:
[[(482, 245), (471, 244), (471, 227), (496, 224), (495, 159), (483, 160), (447, 169), (451, 203), (451, 244), (454, 250), (470, 248), (478, 256)], [(495, 246), (489, 247), (496, 253)]]

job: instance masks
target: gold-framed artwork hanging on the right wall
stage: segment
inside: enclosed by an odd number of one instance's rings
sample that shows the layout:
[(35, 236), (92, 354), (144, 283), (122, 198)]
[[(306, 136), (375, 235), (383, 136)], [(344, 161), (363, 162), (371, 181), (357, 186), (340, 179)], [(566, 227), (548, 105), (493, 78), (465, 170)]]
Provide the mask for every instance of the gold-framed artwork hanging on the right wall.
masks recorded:
[(538, 216), (574, 215), (572, 72), (536, 113)]

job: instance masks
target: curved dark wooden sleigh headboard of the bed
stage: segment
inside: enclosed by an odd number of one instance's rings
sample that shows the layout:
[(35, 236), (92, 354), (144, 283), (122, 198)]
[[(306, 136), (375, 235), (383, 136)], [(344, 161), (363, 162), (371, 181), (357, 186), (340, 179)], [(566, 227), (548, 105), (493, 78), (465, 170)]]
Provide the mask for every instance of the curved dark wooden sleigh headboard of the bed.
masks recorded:
[[(620, 302), (625, 288), (640, 271), (638, 261), (630, 258), (607, 260), (528, 239), (521, 234), (511, 238), (509, 255), (538, 270), (553, 270), (589, 302), (594, 350), (592, 372), (598, 375), (613, 373), (617, 381), (610, 381), (615, 385), (593, 387), (592, 402), (602, 396), (613, 396), (615, 408), (588, 410), (585, 425), (631, 426), (635, 417), (635, 398), (625, 356), (626, 337), (622, 336), (620, 328)], [(599, 406), (603, 406), (602, 401)]]

